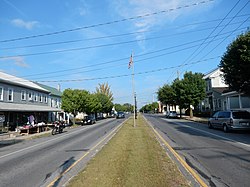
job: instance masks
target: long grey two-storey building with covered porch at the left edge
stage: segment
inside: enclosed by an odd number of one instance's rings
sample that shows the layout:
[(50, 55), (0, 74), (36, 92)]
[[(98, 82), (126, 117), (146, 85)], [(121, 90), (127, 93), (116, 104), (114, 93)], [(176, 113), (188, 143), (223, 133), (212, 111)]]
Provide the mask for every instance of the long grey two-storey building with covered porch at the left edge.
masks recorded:
[(50, 87), (0, 72), (0, 131), (27, 123), (49, 122), (61, 113), (61, 94)]

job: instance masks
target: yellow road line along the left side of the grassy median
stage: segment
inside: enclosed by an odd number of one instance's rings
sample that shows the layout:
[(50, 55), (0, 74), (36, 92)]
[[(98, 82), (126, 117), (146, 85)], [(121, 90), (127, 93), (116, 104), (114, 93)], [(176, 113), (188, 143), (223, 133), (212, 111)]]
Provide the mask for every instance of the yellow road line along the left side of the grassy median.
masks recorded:
[[(127, 119), (128, 120), (128, 119)], [(117, 126), (114, 130), (112, 130), (105, 138), (103, 138), (101, 141), (99, 141), (94, 147), (92, 147), (89, 151), (87, 151), (81, 158), (79, 158), (77, 161), (75, 161), (68, 169), (66, 169), (64, 172), (62, 172), (59, 176), (57, 176), (47, 187), (52, 187), (56, 181), (58, 181), (65, 173), (67, 173), (69, 170), (71, 170), (77, 163), (79, 163), (83, 158), (85, 158), (92, 150), (94, 150), (98, 145), (100, 145), (102, 142), (104, 142), (110, 135), (112, 135), (118, 128), (121, 128), (122, 125), (127, 121), (125, 120), (121, 125)]]

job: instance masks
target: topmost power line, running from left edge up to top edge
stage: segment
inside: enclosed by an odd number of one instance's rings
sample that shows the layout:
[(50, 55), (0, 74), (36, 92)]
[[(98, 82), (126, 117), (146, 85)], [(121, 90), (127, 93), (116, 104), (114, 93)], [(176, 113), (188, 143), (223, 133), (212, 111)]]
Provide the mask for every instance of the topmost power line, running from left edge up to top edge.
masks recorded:
[(62, 34), (62, 33), (67, 33), (67, 32), (79, 31), (79, 30), (83, 30), (83, 29), (100, 27), (100, 26), (104, 26), (104, 25), (111, 25), (111, 24), (115, 24), (115, 23), (131, 21), (131, 20), (135, 20), (135, 19), (141, 19), (141, 18), (144, 18), (144, 17), (150, 17), (150, 16), (155, 16), (155, 15), (159, 15), (159, 14), (163, 14), (163, 13), (168, 13), (168, 12), (172, 12), (174, 10), (179, 10), (179, 9), (182, 9), (182, 8), (190, 8), (192, 6), (198, 6), (198, 5), (205, 4), (205, 3), (208, 3), (208, 2), (212, 2), (212, 1), (214, 1), (214, 0), (204, 0), (204, 1), (196, 2), (196, 3), (184, 5), (184, 6), (179, 6), (177, 8), (171, 8), (171, 9), (168, 9), (168, 10), (162, 10), (162, 11), (158, 11), (158, 12), (147, 13), (147, 14), (144, 14), (144, 15), (124, 18), (124, 19), (115, 20), (115, 21), (109, 21), (109, 22), (104, 22), (104, 23), (99, 23), (99, 24), (94, 24), (94, 25), (89, 25), (89, 26), (77, 27), (77, 28), (68, 29), (68, 30), (61, 30), (61, 31), (56, 31), (56, 32), (45, 33), (45, 34), (39, 34), (39, 35), (32, 35), (32, 36), (25, 36), (25, 37), (20, 37), (20, 38), (1, 40), (0, 43), (13, 42), (13, 41), (18, 41), (18, 40), (26, 40), (26, 39), (31, 39), (31, 38), (43, 37), (43, 36), (51, 36), (51, 35), (57, 35), (57, 34)]

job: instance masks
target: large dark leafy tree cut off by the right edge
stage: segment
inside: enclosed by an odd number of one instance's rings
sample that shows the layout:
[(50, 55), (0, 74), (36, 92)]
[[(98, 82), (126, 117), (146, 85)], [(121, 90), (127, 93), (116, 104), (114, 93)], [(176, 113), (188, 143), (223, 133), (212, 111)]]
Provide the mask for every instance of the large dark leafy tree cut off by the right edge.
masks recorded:
[(227, 47), (219, 67), (231, 90), (250, 95), (250, 31), (238, 36)]

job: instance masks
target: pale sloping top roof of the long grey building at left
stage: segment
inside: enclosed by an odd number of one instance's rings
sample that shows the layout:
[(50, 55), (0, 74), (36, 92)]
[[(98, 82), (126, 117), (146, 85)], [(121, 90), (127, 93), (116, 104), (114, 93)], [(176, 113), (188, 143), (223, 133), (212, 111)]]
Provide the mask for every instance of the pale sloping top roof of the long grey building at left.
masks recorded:
[(5, 82), (8, 84), (12, 84), (12, 85), (16, 85), (16, 86), (22, 86), (22, 87), (26, 87), (26, 88), (30, 88), (30, 89), (35, 89), (38, 91), (43, 91), (43, 92), (49, 92), (48, 90), (42, 88), (41, 86), (35, 84), (32, 81), (23, 79), (23, 78), (19, 78), (4, 72), (0, 71), (0, 82)]

